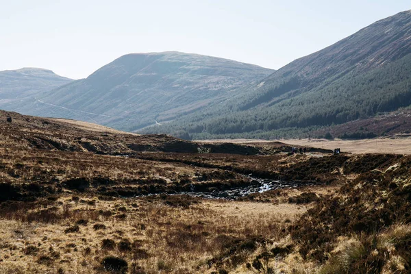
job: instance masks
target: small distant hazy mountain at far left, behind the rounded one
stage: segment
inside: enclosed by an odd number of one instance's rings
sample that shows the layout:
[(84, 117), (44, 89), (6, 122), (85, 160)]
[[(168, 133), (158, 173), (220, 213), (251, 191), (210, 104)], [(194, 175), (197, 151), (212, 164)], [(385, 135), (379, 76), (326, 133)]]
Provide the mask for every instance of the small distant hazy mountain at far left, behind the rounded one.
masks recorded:
[(23, 68), (0, 71), (0, 105), (32, 97), (38, 92), (69, 84), (73, 79), (62, 77), (47, 69)]

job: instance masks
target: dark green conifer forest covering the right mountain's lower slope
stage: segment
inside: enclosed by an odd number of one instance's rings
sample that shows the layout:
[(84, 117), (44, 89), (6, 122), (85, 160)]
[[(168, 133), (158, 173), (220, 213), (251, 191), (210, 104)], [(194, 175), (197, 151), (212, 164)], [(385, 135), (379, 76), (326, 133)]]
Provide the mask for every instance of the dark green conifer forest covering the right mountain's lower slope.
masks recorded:
[[(236, 104), (220, 112), (214, 108), (147, 132), (182, 137), (186, 132), (192, 138), (307, 137), (323, 126), (365, 119), (411, 104), (411, 55), (368, 73), (358, 75), (353, 70), (336, 78), (293, 97), (298, 81), (291, 79), (248, 103), (246, 98), (238, 98)], [(288, 94), (274, 98), (281, 91)], [(267, 101), (271, 103), (262, 103)]]

